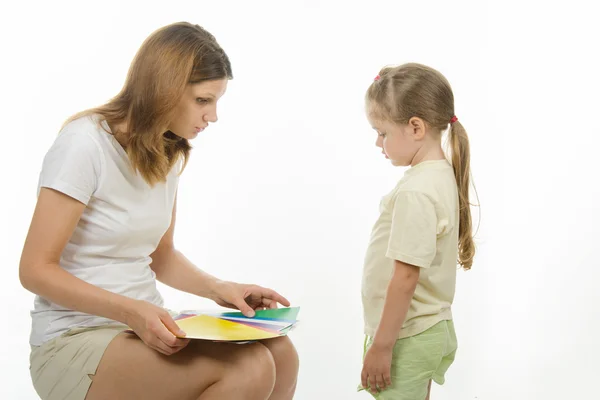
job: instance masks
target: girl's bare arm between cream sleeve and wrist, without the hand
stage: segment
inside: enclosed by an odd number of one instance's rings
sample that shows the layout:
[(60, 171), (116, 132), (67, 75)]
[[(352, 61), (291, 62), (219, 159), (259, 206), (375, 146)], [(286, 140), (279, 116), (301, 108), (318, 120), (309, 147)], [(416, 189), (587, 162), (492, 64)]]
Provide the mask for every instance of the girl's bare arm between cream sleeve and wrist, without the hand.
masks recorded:
[(420, 267), (394, 261), (394, 273), (388, 285), (381, 322), (373, 338), (373, 347), (391, 350), (398, 339), (417, 281)]

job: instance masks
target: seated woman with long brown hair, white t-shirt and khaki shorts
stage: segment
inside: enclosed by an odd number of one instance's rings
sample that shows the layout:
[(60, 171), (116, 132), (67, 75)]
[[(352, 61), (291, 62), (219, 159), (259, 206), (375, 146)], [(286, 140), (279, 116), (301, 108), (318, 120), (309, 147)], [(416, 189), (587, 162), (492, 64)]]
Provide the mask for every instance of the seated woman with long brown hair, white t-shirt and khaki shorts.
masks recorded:
[(70, 118), (48, 151), (20, 263), (21, 283), (37, 295), (30, 369), (42, 399), (293, 397), (298, 356), (287, 337), (183, 339), (156, 287), (248, 316), (289, 305), (202, 272), (173, 244), (188, 141), (217, 121), (229, 79), (210, 33), (165, 26), (139, 49), (122, 91)]

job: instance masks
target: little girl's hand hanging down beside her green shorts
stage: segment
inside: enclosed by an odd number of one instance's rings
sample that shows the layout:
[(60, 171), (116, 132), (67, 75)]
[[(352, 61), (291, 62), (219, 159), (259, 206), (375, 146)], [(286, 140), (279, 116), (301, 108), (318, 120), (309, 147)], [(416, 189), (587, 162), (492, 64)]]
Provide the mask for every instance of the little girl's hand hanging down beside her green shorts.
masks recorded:
[(392, 348), (371, 345), (363, 361), (361, 380), (363, 388), (375, 394), (392, 385)]

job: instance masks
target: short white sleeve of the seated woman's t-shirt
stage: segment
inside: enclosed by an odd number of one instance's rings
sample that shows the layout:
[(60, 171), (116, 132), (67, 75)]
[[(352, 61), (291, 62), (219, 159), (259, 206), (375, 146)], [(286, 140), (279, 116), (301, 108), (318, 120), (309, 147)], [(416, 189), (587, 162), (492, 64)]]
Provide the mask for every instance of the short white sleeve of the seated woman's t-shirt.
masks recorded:
[(102, 149), (89, 133), (61, 132), (44, 157), (39, 189), (54, 189), (87, 205), (101, 168)]

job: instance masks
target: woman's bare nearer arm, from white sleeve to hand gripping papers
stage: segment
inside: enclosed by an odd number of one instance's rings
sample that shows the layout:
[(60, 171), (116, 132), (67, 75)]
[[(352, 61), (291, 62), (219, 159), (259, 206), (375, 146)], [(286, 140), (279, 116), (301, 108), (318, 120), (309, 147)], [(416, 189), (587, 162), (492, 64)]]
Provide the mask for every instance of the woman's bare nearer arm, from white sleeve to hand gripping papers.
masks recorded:
[(19, 264), (23, 287), (68, 309), (122, 322), (163, 354), (185, 347), (187, 340), (176, 337), (185, 333), (166, 310), (91, 285), (60, 267), (60, 255), (84, 209), (61, 192), (40, 190)]

